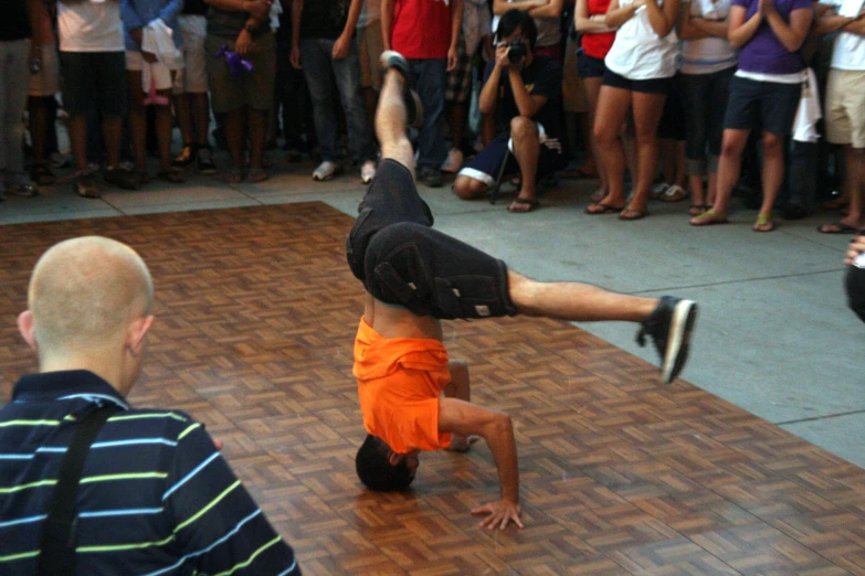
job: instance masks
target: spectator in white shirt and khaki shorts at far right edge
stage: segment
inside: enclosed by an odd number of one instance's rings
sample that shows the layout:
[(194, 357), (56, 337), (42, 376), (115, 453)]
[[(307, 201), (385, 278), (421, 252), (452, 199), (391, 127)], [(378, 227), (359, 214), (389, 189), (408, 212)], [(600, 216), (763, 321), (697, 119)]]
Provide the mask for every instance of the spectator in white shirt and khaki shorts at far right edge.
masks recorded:
[[(832, 52), (826, 86), (826, 138), (844, 146), (844, 193), (850, 212), (835, 224), (817, 228), (824, 234), (850, 233), (865, 226), (865, 6), (858, 12), (829, 13), (819, 33), (840, 30)], [(861, 274), (861, 273), (859, 273)]]

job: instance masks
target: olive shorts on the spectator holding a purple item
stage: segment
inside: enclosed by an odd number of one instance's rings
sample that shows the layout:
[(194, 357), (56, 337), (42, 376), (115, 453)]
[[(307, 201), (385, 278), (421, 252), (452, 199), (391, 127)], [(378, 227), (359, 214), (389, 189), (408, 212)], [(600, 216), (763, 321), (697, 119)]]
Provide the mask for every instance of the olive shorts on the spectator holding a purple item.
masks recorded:
[(268, 32), (255, 39), (253, 51), (244, 55), (252, 63), (252, 72), (234, 78), (229, 73), (224, 58), (217, 57), (222, 45), (234, 50), (234, 40), (220, 36), (204, 39), (208, 84), (213, 111), (224, 114), (249, 106), (254, 110), (270, 110), (273, 107), (273, 90), (276, 76), (276, 39)]

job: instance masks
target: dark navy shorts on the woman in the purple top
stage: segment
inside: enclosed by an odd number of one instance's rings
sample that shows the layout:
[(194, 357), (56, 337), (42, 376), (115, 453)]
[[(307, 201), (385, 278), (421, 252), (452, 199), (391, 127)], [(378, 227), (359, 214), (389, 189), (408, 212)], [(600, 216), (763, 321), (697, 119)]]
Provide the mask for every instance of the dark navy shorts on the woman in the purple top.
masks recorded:
[(758, 82), (734, 76), (730, 79), (730, 99), (727, 102), (724, 128), (789, 135), (793, 131), (801, 95), (801, 84)]

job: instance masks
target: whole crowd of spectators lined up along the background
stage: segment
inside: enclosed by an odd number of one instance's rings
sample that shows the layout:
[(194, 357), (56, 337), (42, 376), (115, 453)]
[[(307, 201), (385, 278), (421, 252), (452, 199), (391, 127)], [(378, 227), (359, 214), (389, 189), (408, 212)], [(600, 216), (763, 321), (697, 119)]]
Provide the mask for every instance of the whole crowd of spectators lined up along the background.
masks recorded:
[(369, 183), (379, 56), (394, 50), (423, 106), (429, 186), (454, 173), (471, 199), (513, 178), (509, 211), (529, 212), (570, 163), (599, 182), (591, 215), (689, 198), (693, 225), (721, 224), (738, 192), (755, 231), (829, 200), (845, 212), (820, 232), (847, 233), (865, 225), (865, 10), (834, 1), (13, 0), (0, 193), (55, 183), (59, 106), (85, 198), (97, 174), (145, 185), (148, 152), (168, 182), (215, 173), (211, 141), (229, 183), (266, 180), (278, 138), (288, 161), (320, 162), (315, 180), (351, 164)]

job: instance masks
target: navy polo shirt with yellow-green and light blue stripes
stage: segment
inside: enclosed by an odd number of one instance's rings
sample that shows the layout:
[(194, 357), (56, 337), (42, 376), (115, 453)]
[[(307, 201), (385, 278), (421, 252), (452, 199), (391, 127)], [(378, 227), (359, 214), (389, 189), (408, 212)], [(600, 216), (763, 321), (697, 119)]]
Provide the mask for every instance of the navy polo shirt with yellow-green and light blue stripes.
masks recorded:
[(200, 423), (131, 409), (87, 371), (24, 376), (0, 409), (0, 574), (35, 574), (74, 422), (110, 404), (78, 488), (77, 574), (300, 574)]

